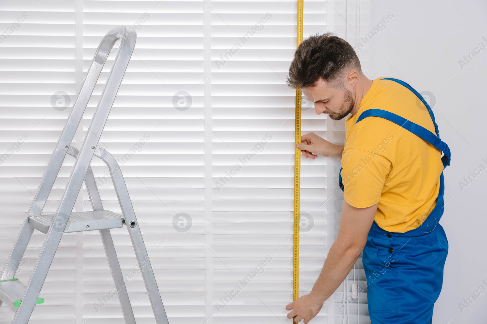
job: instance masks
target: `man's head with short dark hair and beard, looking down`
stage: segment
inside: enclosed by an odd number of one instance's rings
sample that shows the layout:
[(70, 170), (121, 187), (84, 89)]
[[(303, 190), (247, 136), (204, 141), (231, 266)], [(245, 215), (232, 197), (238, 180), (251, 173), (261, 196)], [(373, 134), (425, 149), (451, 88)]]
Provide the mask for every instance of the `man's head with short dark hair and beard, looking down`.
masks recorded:
[(289, 68), (287, 84), (301, 88), (315, 102), (317, 114), (338, 120), (355, 105), (355, 87), (362, 76), (360, 61), (352, 46), (331, 33), (304, 40)]

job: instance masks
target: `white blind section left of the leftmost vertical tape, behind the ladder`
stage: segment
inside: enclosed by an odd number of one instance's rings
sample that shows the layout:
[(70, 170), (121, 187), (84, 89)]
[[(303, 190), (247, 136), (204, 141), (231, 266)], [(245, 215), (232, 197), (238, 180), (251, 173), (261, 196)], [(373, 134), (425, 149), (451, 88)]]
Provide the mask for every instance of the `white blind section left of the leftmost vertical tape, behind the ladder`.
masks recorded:
[[(3, 1), (0, 16), (1, 78), (1, 264), (2, 268), (32, 203), (67, 118), (51, 106), (55, 92), (74, 95), (75, 1)], [(22, 19), (23, 18), (23, 19)], [(54, 101), (59, 98), (54, 97)], [(67, 99), (67, 98), (65, 98)], [(62, 105), (62, 104), (61, 104)], [(67, 158), (44, 211), (56, 210), (73, 161)], [(35, 232), (16, 274), (30, 278), (45, 235)], [(31, 323), (74, 323), (75, 235), (61, 239)], [(0, 321), (13, 313), (1, 307)]]

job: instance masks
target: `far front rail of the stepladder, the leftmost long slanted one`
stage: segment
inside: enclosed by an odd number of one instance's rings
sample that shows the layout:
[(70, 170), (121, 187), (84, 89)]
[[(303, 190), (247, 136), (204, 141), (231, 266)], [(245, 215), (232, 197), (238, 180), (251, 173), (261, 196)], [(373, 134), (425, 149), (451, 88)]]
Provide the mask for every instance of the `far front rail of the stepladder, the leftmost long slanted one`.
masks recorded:
[[(39, 188), (37, 188), (36, 195), (32, 201), (32, 204), (27, 212), (27, 217), (25, 218), (22, 227), (17, 237), (14, 247), (10, 253), (10, 256), (5, 263), (0, 280), (12, 279), (17, 272), (17, 267), (19, 266), (19, 260), (23, 257), (29, 239), (34, 231), (33, 228), (29, 226), (29, 216), (40, 215), (44, 209), (47, 198), (51, 189), (53, 188), (54, 182), (56, 181), (57, 174), (61, 169), (62, 162), (68, 151), (68, 146), (73, 141), (76, 129), (83, 117), (86, 105), (90, 100), (91, 94), (93, 93), (96, 81), (100, 76), (101, 70), (103, 68), (104, 59), (108, 56), (110, 49), (112, 48), (114, 42), (118, 39), (114, 37), (119, 33), (119, 28), (115, 28), (108, 32), (103, 40), (100, 42), (96, 53), (94, 55), (92, 64), (88, 69), (85, 81), (81, 87), (78, 97), (76, 98), (73, 109), (68, 117), (68, 121), (64, 125), (61, 136), (57, 141), (56, 148), (51, 155), (51, 160), (49, 161), (46, 171), (41, 179)], [(110, 47), (107, 51), (107, 48)], [(103, 62), (103, 63), (102, 63)], [(1, 301), (0, 301), (1, 305)]]

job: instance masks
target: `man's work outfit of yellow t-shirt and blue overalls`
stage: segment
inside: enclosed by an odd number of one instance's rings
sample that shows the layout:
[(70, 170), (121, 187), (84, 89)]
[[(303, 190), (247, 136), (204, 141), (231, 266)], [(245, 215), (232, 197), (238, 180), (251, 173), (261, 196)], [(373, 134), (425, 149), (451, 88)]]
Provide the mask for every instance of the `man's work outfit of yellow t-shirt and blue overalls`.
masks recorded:
[(378, 203), (362, 259), (371, 322), (431, 323), (448, 254), (438, 221), (450, 149), (428, 103), (394, 78), (373, 80), (345, 125), (344, 199), (359, 208)]

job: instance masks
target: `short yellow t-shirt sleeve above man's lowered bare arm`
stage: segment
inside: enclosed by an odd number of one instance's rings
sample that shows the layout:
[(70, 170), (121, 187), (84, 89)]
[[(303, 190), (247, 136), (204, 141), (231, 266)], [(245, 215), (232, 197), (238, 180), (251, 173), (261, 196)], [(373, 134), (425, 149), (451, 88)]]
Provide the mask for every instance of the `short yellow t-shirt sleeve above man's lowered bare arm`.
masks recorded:
[(369, 151), (348, 149), (341, 160), (343, 198), (354, 207), (365, 208), (379, 202), (387, 176), (389, 159)]

